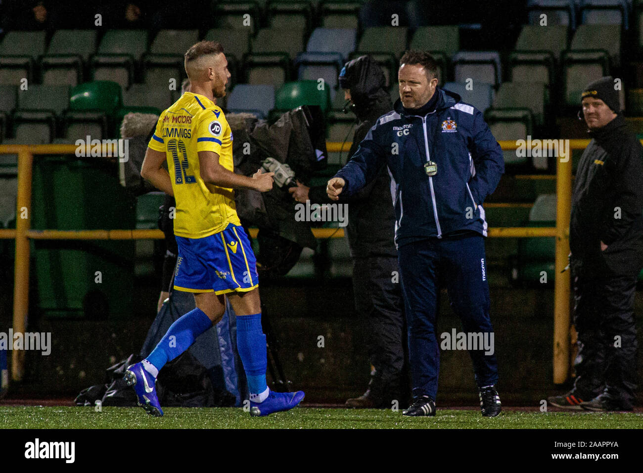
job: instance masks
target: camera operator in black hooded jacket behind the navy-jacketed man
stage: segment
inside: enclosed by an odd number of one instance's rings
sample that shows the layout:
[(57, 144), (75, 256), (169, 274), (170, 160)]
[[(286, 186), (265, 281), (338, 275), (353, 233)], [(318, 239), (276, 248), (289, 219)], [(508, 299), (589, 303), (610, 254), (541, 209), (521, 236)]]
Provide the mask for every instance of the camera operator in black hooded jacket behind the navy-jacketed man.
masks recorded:
[[(393, 105), (385, 89), (384, 73), (370, 56), (347, 62), (340, 73), (340, 87), (350, 100), (349, 109), (358, 118), (348, 154), (350, 160), (377, 118), (390, 112)], [(298, 183), (289, 191), (298, 202), (310, 199), (311, 204), (331, 203), (325, 184), (309, 188)], [(371, 373), (367, 392), (347, 400), (346, 405), (390, 408), (392, 401), (400, 401), (403, 393), (404, 315), (399, 279), (395, 278), (399, 275), (394, 243), (395, 212), (386, 166), (348, 205), (346, 232), (354, 262), (355, 308), (367, 325), (368, 355), (375, 371)]]

